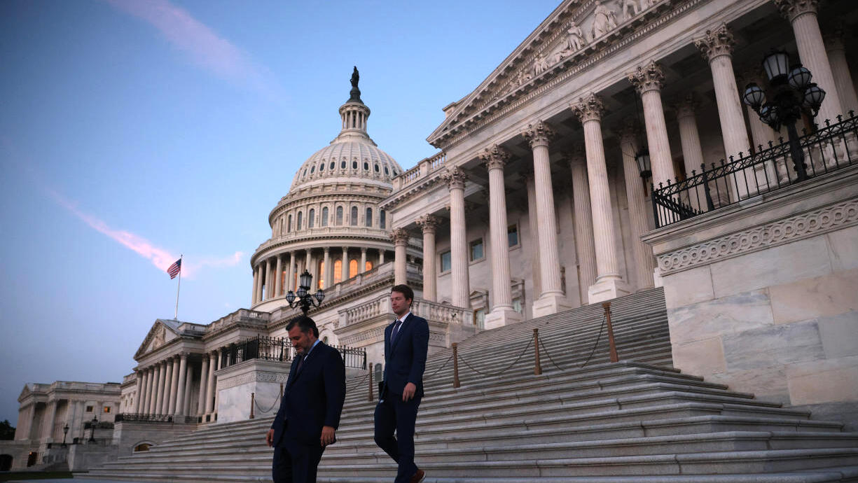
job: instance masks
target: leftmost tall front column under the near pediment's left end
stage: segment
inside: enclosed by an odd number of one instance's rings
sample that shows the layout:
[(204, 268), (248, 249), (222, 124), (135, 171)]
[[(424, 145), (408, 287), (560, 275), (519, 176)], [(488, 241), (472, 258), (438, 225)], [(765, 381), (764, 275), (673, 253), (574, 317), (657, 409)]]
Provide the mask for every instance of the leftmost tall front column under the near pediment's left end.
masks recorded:
[(450, 190), (450, 295), (454, 306), (469, 309), (471, 288), (465, 226), (465, 182), (468, 176), (458, 166), (451, 166), (441, 176)]

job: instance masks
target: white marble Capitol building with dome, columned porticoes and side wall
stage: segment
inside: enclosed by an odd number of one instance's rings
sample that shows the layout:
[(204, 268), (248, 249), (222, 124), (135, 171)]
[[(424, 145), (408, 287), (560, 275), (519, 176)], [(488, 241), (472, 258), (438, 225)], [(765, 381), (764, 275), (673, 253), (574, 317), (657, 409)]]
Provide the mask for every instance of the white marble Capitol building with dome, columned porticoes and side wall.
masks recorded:
[(663, 287), (674, 367), (858, 425), (856, 26), (848, 0), (565, 0), (406, 168), (372, 141), (354, 69), (339, 133), (268, 214), (247, 308), (155, 320), (122, 383), (27, 384), (13, 464), (90, 429), (128, 454), (272, 415), (304, 273), (353, 377), (380, 377), (394, 284), (430, 353)]

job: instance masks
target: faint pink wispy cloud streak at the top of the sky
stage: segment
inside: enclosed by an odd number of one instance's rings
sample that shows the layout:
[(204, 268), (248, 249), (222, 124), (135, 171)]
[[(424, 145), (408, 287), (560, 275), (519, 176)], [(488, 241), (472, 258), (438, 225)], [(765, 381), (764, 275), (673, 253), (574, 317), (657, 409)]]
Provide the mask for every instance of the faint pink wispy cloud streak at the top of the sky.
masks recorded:
[(229, 82), (280, 100), (280, 88), (268, 69), (253, 62), (245, 51), (196, 20), (187, 10), (167, 0), (106, 2), (116, 9), (147, 21), (203, 69), (208, 69)]

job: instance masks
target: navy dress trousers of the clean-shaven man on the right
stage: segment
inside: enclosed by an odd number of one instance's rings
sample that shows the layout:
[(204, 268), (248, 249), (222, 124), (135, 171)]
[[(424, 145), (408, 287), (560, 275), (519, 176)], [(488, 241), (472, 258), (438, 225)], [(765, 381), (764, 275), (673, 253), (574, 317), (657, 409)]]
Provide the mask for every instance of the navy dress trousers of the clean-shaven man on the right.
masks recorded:
[[(401, 394), (387, 391), (384, 402), (376, 405), (375, 440), (378, 447), (399, 463), (396, 483), (408, 483), (417, 473), (414, 464), (414, 421), (417, 420), (417, 408), (420, 397), (411, 401), (402, 401)], [(396, 437), (393, 432), (396, 431)]]

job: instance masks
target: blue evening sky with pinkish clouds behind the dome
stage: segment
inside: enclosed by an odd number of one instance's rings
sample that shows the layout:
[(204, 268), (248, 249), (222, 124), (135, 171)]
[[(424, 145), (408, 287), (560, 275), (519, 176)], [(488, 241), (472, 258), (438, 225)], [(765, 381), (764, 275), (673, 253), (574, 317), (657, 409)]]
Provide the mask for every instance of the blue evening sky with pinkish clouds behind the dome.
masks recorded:
[(557, 0), (0, 2), (0, 420), (121, 382), (148, 329), (248, 305), (249, 257), (339, 131), (353, 65), (404, 168)]

